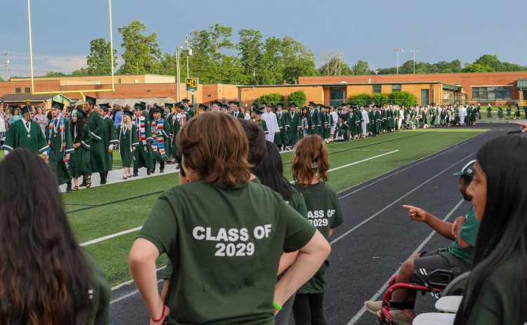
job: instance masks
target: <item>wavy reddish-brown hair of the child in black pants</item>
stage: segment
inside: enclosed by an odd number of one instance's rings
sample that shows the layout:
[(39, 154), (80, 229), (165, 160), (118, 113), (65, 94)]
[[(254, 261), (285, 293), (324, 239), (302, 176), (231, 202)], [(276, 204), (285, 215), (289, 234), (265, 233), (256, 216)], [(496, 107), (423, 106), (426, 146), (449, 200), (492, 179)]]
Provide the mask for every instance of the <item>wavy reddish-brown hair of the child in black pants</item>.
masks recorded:
[(320, 136), (306, 135), (297, 143), (292, 165), (295, 182), (307, 188), (315, 175), (319, 182), (327, 182), (329, 168), (327, 150)]

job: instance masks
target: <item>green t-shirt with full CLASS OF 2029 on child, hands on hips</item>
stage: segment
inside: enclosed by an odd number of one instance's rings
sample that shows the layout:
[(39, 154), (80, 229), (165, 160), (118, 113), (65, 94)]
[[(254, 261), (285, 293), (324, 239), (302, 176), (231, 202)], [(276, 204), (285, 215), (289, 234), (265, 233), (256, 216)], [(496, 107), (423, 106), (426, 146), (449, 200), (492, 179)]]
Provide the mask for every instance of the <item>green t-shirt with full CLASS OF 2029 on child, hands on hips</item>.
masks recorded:
[(280, 255), (313, 234), (315, 227), (268, 187), (199, 180), (164, 192), (138, 237), (173, 265), (169, 324), (274, 324)]

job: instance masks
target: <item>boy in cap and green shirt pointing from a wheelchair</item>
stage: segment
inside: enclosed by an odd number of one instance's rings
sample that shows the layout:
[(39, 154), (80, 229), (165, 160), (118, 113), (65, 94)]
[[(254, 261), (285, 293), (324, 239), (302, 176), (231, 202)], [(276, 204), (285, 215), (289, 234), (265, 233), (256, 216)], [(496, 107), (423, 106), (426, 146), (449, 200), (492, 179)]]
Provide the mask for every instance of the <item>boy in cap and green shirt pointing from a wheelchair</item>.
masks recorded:
[[(461, 172), (455, 173), (459, 176), (459, 190), (463, 198), (471, 201), (467, 189), (474, 178), (475, 160), (470, 161), (463, 167)], [(422, 284), (422, 279), (427, 279), (427, 275), (434, 270), (458, 270), (467, 272), (471, 270), (474, 259), (474, 247), (479, 231), (479, 221), (471, 207), (467, 215), (457, 218), (453, 223), (443, 221), (431, 215), (422, 208), (403, 205), (408, 209), (410, 220), (427, 223), (432, 229), (447, 239), (453, 240), (448, 248), (440, 248), (436, 251), (424, 252), (412, 256), (402, 266), (396, 277), (396, 283), (415, 283)], [(433, 277), (436, 283), (448, 281), (447, 277)], [(398, 324), (412, 324), (415, 318), (415, 296), (417, 291), (408, 289), (398, 289), (393, 291), (390, 301), (390, 314)], [(366, 301), (364, 306), (368, 312), (379, 315), (382, 310), (382, 301)]]

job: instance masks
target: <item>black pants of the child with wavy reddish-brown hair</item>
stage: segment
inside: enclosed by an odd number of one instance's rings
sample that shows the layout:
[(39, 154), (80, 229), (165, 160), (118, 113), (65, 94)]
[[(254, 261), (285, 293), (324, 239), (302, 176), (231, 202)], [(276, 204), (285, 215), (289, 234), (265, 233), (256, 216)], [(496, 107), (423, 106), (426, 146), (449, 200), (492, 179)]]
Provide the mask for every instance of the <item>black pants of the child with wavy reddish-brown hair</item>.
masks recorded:
[(327, 325), (324, 317), (324, 293), (297, 293), (294, 297), (295, 325)]

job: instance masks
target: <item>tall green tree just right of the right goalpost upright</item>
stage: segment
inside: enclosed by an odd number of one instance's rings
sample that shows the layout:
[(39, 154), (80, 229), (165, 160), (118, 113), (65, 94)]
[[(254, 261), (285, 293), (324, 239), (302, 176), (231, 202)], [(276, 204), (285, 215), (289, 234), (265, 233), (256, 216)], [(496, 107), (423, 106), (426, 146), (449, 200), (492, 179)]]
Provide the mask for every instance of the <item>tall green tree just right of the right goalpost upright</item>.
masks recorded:
[(139, 20), (117, 29), (121, 33), (124, 48), (124, 74), (157, 74), (161, 67), (161, 51), (157, 44), (157, 33), (145, 35), (146, 26)]

